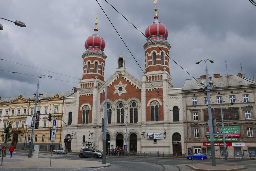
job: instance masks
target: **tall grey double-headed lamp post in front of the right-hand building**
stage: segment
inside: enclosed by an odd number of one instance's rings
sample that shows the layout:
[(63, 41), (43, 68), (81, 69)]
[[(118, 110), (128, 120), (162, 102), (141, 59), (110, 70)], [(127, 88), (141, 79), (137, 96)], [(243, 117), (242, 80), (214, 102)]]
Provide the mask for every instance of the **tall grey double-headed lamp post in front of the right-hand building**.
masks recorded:
[[(211, 108), (211, 97), (210, 97), (210, 89), (209, 89), (209, 75), (208, 75), (208, 69), (206, 65), (206, 61), (209, 59), (203, 59), (201, 61), (205, 62), (205, 76), (206, 76), (206, 89), (207, 89), (207, 101), (208, 101), (208, 114), (209, 114), (209, 130), (210, 130), (210, 140), (211, 140), (211, 153), (212, 153), (212, 166), (216, 166), (216, 160), (215, 160), (215, 150), (214, 150), (214, 139), (213, 139), (213, 127), (212, 127), (212, 108)], [(201, 61), (196, 62), (196, 64), (199, 64)], [(211, 63), (213, 63), (213, 60), (209, 60)]]

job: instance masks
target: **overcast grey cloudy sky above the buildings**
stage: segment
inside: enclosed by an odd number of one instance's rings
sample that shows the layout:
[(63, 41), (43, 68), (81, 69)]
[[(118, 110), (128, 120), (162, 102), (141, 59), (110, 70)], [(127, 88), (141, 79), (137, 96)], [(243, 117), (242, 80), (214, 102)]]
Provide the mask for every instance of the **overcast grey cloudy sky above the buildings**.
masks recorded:
[[(142, 46), (146, 38), (104, 0), (98, 1), (144, 68)], [(154, 21), (153, 0), (108, 2), (143, 33)], [(99, 15), (98, 34), (106, 42), (105, 80), (115, 72), (121, 51), (126, 59), (126, 70), (141, 80), (142, 71), (96, 0), (8, 0), (1, 1), (0, 8), (0, 17), (20, 20), (27, 26), (18, 27), (0, 19), (4, 27), (0, 30), (0, 58), (4, 59), (0, 60), (1, 97), (32, 95), (36, 92), (38, 76), (42, 74), (52, 75), (56, 80), (40, 79), (39, 92), (71, 91), (72, 87), (77, 87), (78, 78), (82, 77), (84, 42), (93, 34), (96, 14)], [(169, 32), (170, 57), (195, 78), (205, 73), (204, 63), (196, 65), (195, 62), (207, 58), (215, 61), (207, 65), (210, 76), (226, 75), (227, 60), (228, 75), (241, 72), (242, 64), (245, 77), (252, 80), (253, 74), (256, 77), (256, 7), (249, 1), (158, 0), (157, 8), (158, 21)], [(192, 79), (172, 61), (170, 69), (174, 88)]]

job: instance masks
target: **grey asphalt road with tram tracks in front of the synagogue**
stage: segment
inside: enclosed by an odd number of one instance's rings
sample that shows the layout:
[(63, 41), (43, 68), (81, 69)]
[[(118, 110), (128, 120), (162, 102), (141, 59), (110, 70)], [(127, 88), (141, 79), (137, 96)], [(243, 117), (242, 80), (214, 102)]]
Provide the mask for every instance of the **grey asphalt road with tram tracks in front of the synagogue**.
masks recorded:
[[(18, 151), (12, 155), (13, 157), (28, 157), (28, 152)], [(50, 162), (50, 154), (39, 154), (39, 158), (49, 158)], [(8, 156), (7, 156), (8, 157)], [(72, 160), (81, 160), (81, 162), (86, 160), (91, 161), (102, 161), (102, 159), (94, 159), (94, 158), (80, 158), (74, 154), (52, 154), (52, 158), (55, 159), (72, 159)], [(76, 171), (84, 170), (84, 171), (113, 171), (113, 170), (127, 170), (127, 171), (187, 171), (191, 170), (185, 164), (192, 164), (191, 160), (188, 159), (163, 159), (163, 158), (144, 158), (144, 157), (119, 157), (119, 156), (107, 156), (107, 163), (110, 163), (110, 167), (102, 167), (102, 168), (77, 168)], [(256, 162), (255, 161), (245, 161), (245, 160), (216, 160), (217, 165), (237, 165), (237, 166), (245, 166), (248, 169), (244, 169), (243, 171), (255, 171)], [(194, 164), (209, 164), (211, 165), (211, 159), (206, 160), (194, 160)], [(19, 170), (19, 171), (29, 171), (30, 169), (5, 169), (1, 168), (1, 171), (9, 171), (9, 170)], [(44, 171), (47, 169), (36, 169), (38, 171)], [(49, 169), (48, 169), (49, 170)], [(74, 170), (74, 169), (51, 169), (51, 170)]]

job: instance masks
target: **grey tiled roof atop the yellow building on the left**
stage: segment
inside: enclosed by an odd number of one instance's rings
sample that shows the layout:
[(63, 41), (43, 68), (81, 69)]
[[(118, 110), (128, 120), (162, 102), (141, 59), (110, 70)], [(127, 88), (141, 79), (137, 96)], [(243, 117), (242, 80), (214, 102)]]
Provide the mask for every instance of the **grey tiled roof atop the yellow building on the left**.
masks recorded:
[[(58, 93), (47, 93), (47, 94), (44, 94), (43, 96), (40, 96), (38, 97), (38, 100), (43, 100), (43, 99), (49, 99), (49, 98), (52, 98), (54, 96), (56, 96), (56, 94), (59, 95), (59, 97), (68, 97), (72, 94), (72, 91), (66, 91), (66, 92), (58, 92)], [(17, 97), (4, 97), (4, 98), (1, 98), (0, 99), (0, 103), (9, 103), (11, 102), (12, 100), (18, 98), (19, 96)], [(30, 98), (30, 101), (34, 101), (35, 100), (35, 97), (34, 95), (30, 95), (30, 96), (22, 96), (22, 98), (28, 100)]]

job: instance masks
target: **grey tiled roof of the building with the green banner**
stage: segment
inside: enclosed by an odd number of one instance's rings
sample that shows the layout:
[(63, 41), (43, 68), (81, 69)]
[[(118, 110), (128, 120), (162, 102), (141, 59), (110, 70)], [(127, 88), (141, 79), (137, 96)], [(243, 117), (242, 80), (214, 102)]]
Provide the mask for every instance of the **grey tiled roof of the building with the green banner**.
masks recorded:
[[(186, 80), (183, 85), (182, 90), (202, 89), (203, 86), (200, 84), (201, 82), (204, 82), (205, 86), (206, 86), (206, 78), (204, 78), (204, 79), (197, 78), (196, 80), (195, 79)], [(210, 86), (212, 88), (234, 87), (234, 86), (245, 86), (245, 85), (255, 85), (256, 84), (256, 81), (253, 81), (253, 80), (250, 80), (248, 78), (244, 78), (244, 77), (241, 77), (238, 75), (210, 77), (209, 81), (213, 82), (213, 86)]]

